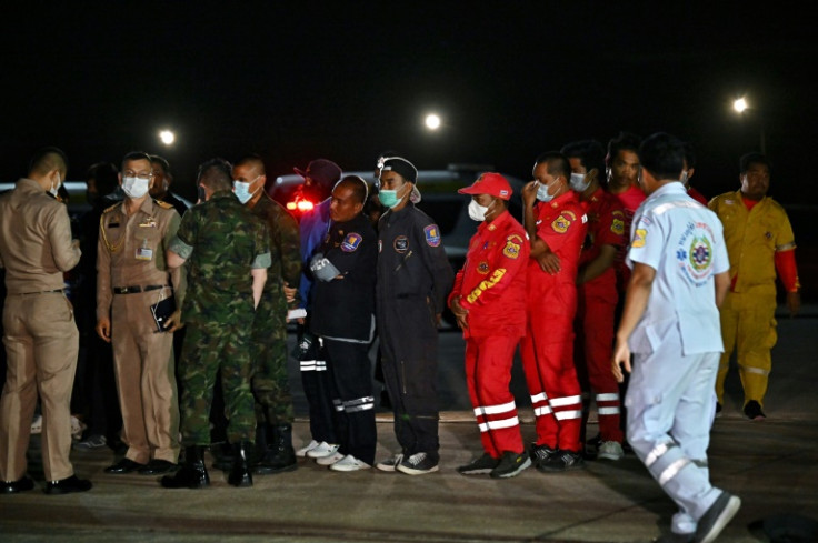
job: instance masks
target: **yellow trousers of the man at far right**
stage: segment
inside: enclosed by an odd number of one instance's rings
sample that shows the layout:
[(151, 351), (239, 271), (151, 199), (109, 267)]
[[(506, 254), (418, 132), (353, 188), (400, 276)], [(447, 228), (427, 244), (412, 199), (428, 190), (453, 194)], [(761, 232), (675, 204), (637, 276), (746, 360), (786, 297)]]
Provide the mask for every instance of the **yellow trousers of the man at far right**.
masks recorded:
[(772, 359), (770, 349), (776, 344), (776, 295), (769, 293), (728, 292), (721, 305), (721, 339), (725, 352), (719, 361), (716, 395), (724, 403), (725, 378), (730, 355), (736, 350), (739, 376), (745, 391), (745, 405), (750, 400), (764, 406)]

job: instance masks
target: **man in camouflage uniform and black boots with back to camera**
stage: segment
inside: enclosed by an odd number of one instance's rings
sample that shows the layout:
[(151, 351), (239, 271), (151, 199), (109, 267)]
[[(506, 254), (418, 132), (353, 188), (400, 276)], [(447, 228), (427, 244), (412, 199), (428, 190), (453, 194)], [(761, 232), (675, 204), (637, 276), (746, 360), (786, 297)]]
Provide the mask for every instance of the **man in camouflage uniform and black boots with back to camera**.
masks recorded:
[(198, 489), (209, 484), (202, 452), (210, 443), (209, 413), (216, 374), (221, 384), (233, 446), (228, 482), (251, 486), (248, 454), (256, 432), (250, 391), (250, 335), (255, 310), (270, 267), (267, 228), (232, 192), (230, 164), (221, 159), (199, 168), (205, 202), (192, 207), (170, 242), (168, 264), (190, 260), (190, 295), (182, 305), (188, 324), (180, 363), (182, 380), (182, 436), (184, 465), (162, 477), (169, 489)]

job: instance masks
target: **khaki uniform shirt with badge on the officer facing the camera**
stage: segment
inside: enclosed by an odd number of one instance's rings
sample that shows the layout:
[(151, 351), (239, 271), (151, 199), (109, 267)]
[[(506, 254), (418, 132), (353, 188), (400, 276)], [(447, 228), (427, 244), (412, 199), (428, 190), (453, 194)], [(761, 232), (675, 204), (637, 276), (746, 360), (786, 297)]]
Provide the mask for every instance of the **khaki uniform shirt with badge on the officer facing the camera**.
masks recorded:
[[(110, 316), (114, 288), (172, 284), (177, 308), (184, 298), (181, 268), (168, 271), (164, 251), (181, 219), (169, 203), (148, 197), (128, 217), (126, 202), (108, 208), (99, 222), (97, 319)], [(170, 283), (169, 283), (170, 280)]]

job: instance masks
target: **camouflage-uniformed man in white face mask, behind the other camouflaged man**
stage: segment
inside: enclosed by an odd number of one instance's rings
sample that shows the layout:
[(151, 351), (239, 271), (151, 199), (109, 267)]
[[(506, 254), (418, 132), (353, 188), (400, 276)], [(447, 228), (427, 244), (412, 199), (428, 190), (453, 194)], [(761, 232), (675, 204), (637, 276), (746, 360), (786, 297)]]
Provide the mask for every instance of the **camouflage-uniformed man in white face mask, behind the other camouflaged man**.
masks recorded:
[(236, 197), (267, 224), (272, 262), (252, 326), (252, 392), (260, 456), (253, 472), (292, 471), (298, 464), (292, 450), (293, 409), (287, 375), (287, 300), (295, 301), (301, 275), (298, 222), (265, 192), (267, 175), (258, 155), (240, 159), (233, 165), (232, 178)]

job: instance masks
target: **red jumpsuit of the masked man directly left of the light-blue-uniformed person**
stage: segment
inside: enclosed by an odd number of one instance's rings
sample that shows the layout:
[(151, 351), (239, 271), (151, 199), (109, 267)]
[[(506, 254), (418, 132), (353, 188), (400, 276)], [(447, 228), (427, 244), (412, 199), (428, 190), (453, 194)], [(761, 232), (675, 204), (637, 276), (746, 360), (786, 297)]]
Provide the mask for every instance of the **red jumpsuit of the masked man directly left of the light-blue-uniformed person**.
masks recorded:
[[(616, 197), (601, 188), (581, 202), (588, 215), (588, 235), (579, 258), (582, 268), (599, 257), (602, 245), (619, 251), (625, 245), (625, 212)], [(619, 384), (610, 371), (614, 348), (614, 313), (617, 306), (617, 273), (611, 265), (601, 275), (577, 288), (575, 361), (582, 382), (596, 392), (602, 441), (622, 442), (619, 428)]]

